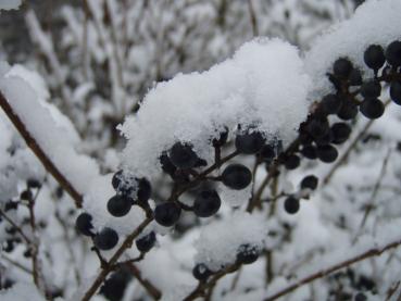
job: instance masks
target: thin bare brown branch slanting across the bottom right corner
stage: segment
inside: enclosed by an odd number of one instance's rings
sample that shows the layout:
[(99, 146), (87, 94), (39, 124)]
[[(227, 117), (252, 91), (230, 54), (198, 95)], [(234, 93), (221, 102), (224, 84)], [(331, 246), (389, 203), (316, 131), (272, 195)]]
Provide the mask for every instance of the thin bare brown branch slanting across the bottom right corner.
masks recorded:
[(398, 246), (401, 244), (401, 240), (397, 240), (397, 241), (392, 241), (390, 243), (387, 243), (385, 244), (384, 247), (381, 248), (373, 248), (373, 249), (369, 249), (356, 256), (353, 256), (351, 259), (348, 259), (346, 261), (342, 261), (340, 263), (337, 263), (337, 264), (334, 264), (329, 267), (326, 267), (326, 268), (323, 268), (314, 274), (311, 274), (304, 278), (302, 278), (301, 280), (297, 281), (296, 284), (292, 284), (292, 285), (289, 285), (288, 287), (281, 289), (280, 291), (267, 297), (264, 299), (264, 301), (273, 301), (273, 300), (276, 300), (287, 293), (290, 293), (292, 292), (293, 290), (296, 290), (297, 288), (303, 286), (303, 285), (308, 285), (309, 283), (312, 283), (318, 278), (323, 278), (334, 272), (337, 272), (338, 269), (341, 269), (341, 268), (344, 268), (347, 266), (350, 266), (356, 262), (360, 262), (360, 261), (363, 261), (363, 260), (366, 260), (368, 258), (373, 258), (373, 256), (379, 256), (381, 255), (384, 252), (390, 250), (390, 249), (393, 249), (393, 248), (397, 248)]

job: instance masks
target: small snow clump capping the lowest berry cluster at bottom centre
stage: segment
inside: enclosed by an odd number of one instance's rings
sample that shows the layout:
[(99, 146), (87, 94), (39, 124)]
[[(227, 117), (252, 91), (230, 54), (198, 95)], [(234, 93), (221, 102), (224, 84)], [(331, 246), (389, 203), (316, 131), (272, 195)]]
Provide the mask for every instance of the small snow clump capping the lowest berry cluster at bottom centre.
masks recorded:
[(204, 263), (211, 271), (218, 271), (236, 261), (241, 244), (250, 244), (260, 251), (267, 234), (261, 215), (235, 212), (226, 220), (214, 222), (201, 229), (196, 241), (197, 263)]

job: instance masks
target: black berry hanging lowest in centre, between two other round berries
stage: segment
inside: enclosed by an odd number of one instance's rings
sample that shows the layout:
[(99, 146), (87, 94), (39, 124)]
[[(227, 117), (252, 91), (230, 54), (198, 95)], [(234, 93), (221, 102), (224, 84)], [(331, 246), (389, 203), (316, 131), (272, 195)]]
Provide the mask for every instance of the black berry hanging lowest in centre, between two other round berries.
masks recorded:
[(210, 217), (217, 213), (222, 201), (216, 190), (203, 190), (193, 202), (193, 213), (199, 217)]

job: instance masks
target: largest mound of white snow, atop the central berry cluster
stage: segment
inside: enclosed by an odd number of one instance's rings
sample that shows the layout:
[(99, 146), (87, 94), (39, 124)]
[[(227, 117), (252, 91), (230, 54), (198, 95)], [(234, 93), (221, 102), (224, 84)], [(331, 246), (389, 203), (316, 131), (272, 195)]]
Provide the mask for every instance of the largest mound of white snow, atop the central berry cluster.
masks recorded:
[(177, 140), (191, 142), (210, 162), (210, 139), (225, 126), (236, 130), (239, 124), (258, 125), (267, 138), (288, 142), (309, 108), (311, 81), (302, 70), (295, 47), (258, 38), (206, 72), (159, 83), (138, 114), (120, 127), (128, 139), (123, 164), (138, 176), (154, 176), (161, 171), (158, 158)]

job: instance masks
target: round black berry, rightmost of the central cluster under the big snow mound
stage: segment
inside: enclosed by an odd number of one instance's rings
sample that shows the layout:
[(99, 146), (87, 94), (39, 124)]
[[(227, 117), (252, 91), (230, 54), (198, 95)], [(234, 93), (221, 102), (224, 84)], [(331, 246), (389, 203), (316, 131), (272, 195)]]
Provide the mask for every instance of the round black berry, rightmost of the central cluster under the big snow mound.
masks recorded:
[(230, 164), (228, 165), (223, 174), (222, 181), (225, 186), (241, 190), (246, 188), (252, 180), (251, 171), (241, 164)]

